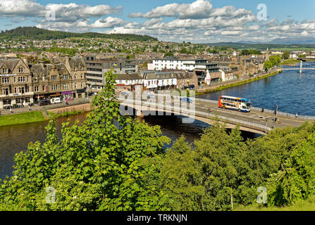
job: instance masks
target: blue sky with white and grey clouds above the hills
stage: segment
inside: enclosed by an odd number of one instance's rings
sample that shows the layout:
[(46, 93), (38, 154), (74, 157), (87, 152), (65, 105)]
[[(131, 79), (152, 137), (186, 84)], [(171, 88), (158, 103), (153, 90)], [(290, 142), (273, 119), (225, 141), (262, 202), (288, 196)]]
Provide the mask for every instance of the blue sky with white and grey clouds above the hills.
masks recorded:
[(36, 26), (160, 41), (267, 43), (313, 39), (314, 11), (314, 0), (0, 0), (0, 30)]

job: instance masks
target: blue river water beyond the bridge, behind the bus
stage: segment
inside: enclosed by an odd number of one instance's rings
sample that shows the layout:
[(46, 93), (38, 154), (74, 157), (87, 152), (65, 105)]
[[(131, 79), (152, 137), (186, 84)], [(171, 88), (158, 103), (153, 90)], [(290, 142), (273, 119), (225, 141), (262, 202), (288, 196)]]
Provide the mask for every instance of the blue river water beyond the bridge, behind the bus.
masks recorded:
[[(314, 62), (308, 64), (314, 65)], [(285, 68), (285, 67), (284, 67)], [(284, 70), (273, 77), (260, 79), (222, 91), (199, 96), (218, 101), (219, 96), (249, 98), (252, 106), (285, 113), (315, 116), (315, 70)]]

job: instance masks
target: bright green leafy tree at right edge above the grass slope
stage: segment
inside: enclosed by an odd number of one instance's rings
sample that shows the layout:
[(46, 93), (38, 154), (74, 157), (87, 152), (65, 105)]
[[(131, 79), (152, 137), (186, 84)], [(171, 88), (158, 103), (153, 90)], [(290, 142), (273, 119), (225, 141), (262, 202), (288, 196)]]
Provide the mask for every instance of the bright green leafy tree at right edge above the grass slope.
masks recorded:
[(268, 182), (271, 206), (292, 205), (315, 194), (315, 133), (295, 148)]

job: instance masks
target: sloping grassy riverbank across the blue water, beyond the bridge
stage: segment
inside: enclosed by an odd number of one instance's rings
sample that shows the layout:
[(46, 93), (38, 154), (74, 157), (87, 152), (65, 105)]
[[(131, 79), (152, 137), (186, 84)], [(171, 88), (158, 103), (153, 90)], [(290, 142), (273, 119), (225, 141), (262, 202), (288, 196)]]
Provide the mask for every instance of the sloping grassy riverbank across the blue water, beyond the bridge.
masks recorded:
[(269, 73), (267, 75), (261, 75), (261, 76), (258, 76), (258, 77), (249, 77), (247, 79), (243, 79), (242, 81), (235, 81), (235, 82), (231, 82), (231, 83), (228, 83), (228, 84), (220, 84), (220, 85), (216, 85), (216, 86), (210, 86), (210, 87), (205, 88), (205, 89), (199, 89), (199, 90), (197, 90), (196, 96), (200, 96), (200, 95), (206, 94), (206, 93), (211, 93), (211, 92), (214, 92), (214, 91), (221, 91), (221, 90), (233, 87), (233, 86), (240, 86), (242, 84), (255, 82), (255, 81), (259, 80), (259, 79), (272, 77), (274, 75), (277, 75), (280, 72), (282, 72), (282, 70), (276, 71), (276, 72), (271, 72), (271, 73)]

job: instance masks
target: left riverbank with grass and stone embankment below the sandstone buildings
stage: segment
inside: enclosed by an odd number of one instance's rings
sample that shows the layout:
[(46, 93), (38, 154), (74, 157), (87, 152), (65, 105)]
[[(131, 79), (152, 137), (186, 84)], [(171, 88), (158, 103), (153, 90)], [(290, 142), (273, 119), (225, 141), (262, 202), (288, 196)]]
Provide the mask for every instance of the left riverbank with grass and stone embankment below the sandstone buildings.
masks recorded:
[(73, 105), (63, 108), (55, 108), (51, 110), (38, 110), (27, 113), (15, 113), (12, 115), (0, 116), (0, 127), (6, 127), (16, 124), (27, 124), (32, 122), (43, 122), (50, 120), (52, 117), (67, 117), (70, 115), (78, 115), (92, 110), (90, 103), (82, 105)]

